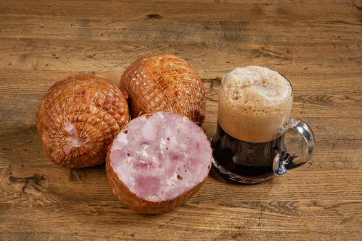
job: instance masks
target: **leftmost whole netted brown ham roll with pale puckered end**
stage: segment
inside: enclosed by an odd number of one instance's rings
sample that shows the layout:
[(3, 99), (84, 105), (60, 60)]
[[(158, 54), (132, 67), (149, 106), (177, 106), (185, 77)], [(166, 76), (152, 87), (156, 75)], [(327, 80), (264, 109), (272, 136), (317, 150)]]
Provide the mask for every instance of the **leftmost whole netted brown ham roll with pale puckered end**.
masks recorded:
[(52, 85), (37, 113), (43, 150), (70, 168), (104, 163), (114, 134), (128, 121), (128, 104), (117, 85), (88, 74)]

